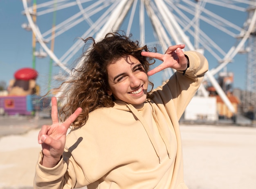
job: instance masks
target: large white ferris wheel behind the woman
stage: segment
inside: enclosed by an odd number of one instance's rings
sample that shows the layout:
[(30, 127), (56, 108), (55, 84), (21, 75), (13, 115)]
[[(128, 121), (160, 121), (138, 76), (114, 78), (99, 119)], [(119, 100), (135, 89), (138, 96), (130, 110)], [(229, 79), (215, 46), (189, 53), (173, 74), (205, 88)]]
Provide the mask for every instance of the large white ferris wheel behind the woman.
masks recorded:
[[(141, 44), (165, 51), (186, 44), (215, 65), (206, 78), (232, 111), (233, 106), (214, 78), (245, 47), (255, 29), (255, 0), (22, 0), (25, 14), (41, 52), (70, 74), (69, 65), (84, 43), (111, 31), (132, 33)], [(30, 1), (29, 1), (30, 2)], [(248, 19), (248, 10), (251, 18)], [(249, 20), (249, 21), (248, 21)], [(246, 27), (245, 27), (245, 24)], [(53, 44), (55, 48), (53, 50)], [(78, 65), (79, 66), (79, 65)], [(57, 74), (57, 71), (54, 74)], [(172, 70), (162, 73), (168, 78)], [(207, 96), (204, 87), (200, 91)]]

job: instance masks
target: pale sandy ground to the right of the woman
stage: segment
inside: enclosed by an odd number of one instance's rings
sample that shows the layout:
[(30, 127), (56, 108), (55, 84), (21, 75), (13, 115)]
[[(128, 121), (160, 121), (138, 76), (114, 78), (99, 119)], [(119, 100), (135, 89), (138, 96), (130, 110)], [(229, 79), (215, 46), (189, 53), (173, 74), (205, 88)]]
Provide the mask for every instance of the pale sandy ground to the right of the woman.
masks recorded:
[(180, 128), (189, 189), (256, 189), (256, 127)]

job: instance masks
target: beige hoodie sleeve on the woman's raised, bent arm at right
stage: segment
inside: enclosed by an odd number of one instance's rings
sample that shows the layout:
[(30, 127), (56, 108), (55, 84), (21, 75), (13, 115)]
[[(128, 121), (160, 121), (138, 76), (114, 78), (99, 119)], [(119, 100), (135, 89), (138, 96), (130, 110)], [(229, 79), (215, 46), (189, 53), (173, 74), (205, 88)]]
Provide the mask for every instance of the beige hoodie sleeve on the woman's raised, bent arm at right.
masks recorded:
[(183, 71), (176, 71), (169, 80), (153, 91), (153, 101), (158, 106), (164, 105), (169, 113), (176, 112), (179, 120), (186, 106), (195, 95), (203, 81), (204, 73), (208, 71), (208, 61), (196, 51), (185, 51), (189, 59), (189, 68), (183, 76)]

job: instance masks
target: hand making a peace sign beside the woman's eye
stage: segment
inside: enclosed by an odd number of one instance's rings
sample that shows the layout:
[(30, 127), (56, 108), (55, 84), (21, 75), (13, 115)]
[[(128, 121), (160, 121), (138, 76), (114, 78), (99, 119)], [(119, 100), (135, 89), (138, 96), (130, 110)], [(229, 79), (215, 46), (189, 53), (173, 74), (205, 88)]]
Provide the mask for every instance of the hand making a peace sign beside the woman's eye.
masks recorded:
[(185, 70), (187, 68), (187, 60), (182, 51), (184, 49), (185, 44), (177, 44), (170, 46), (164, 54), (161, 53), (152, 53), (152, 52), (141, 52), (142, 56), (149, 56), (151, 58), (156, 58), (158, 60), (163, 61), (162, 64), (155, 67), (154, 69), (148, 71), (148, 76), (152, 76), (153, 74), (162, 71), (166, 68), (173, 68), (176, 70)]

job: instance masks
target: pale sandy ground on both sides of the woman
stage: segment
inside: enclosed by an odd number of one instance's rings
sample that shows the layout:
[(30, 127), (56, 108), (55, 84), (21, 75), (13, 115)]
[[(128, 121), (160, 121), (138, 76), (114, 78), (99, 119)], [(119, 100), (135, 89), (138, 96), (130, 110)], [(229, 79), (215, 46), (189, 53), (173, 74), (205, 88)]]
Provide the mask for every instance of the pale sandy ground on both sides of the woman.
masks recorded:
[[(256, 127), (181, 125), (189, 189), (255, 189)], [(0, 138), (0, 189), (32, 189), (38, 128)]]

